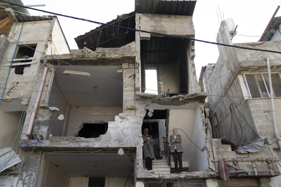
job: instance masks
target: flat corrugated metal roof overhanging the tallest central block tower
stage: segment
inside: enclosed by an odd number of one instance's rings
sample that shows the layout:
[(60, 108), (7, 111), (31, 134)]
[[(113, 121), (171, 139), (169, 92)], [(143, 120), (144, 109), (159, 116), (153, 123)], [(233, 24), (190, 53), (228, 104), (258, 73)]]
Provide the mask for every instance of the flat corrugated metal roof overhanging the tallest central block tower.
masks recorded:
[(135, 0), (136, 13), (189, 15), (194, 12), (196, 1)]

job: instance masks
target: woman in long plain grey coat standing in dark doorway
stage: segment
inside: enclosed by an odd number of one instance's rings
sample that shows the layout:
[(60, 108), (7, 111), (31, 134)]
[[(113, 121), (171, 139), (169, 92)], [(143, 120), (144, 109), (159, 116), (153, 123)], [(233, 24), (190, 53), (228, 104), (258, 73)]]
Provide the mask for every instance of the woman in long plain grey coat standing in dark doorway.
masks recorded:
[[(152, 146), (153, 139), (148, 134), (148, 129), (143, 130), (143, 155), (145, 157), (145, 167), (147, 170), (152, 170), (152, 160), (154, 159), (154, 152)], [(151, 171), (153, 173), (153, 171)]]

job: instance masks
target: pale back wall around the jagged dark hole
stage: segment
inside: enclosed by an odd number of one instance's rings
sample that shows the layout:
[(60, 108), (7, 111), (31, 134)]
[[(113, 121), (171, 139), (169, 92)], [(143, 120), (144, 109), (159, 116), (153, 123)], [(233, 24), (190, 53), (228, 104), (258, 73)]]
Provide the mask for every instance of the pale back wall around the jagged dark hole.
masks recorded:
[(83, 123), (106, 123), (115, 121), (115, 116), (123, 111), (122, 106), (71, 107), (67, 136), (76, 136)]

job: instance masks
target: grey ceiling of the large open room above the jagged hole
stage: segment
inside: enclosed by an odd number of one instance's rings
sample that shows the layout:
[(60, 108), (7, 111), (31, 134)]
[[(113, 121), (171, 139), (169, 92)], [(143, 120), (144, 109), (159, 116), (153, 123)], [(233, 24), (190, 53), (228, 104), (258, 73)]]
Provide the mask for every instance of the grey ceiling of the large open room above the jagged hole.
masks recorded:
[[(78, 66), (89, 72), (91, 77), (79, 75), (63, 75), (65, 70), (85, 72), (73, 66), (59, 66), (56, 69), (54, 81), (59, 85), (64, 96), (71, 105), (100, 105), (100, 106), (121, 106), (123, 101), (123, 74), (117, 70), (121, 66)], [(113, 81), (113, 80), (119, 81)], [(71, 92), (71, 93), (69, 93)], [(79, 93), (73, 93), (79, 92)], [(82, 93), (81, 93), (82, 92)], [(55, 93), (52, 93), (55, 94)]]

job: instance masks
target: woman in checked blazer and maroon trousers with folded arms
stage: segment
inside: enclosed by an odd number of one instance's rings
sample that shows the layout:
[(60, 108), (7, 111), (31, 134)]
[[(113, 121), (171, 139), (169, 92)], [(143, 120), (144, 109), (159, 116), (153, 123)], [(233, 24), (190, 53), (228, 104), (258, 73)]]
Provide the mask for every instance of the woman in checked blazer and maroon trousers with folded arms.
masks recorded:
[[(173, 134), (170, 136), (170, 143), (171, 143), (171, 153), (174, 157), (175, 161), (175, 173), (182, 172), (182, 160), (181, 155), (183, 153), (182, 146), (181, 146), (181, 135), (178, 134), (177, 128), (173, 129)], [(178, 170), (178, 161), (179, 161), (179, 170)]]

